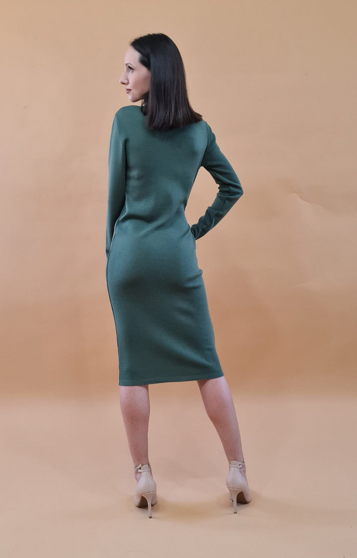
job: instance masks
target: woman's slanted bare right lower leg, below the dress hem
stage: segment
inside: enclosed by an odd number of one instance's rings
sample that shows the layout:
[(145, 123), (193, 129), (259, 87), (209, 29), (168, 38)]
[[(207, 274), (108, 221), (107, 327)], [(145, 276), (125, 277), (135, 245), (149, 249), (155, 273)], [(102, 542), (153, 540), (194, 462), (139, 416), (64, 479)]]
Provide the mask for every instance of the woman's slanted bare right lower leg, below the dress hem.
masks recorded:
[[(241, 434), (236, 410), (226, 378), (198, 380), (204, 408), (221, 439), (228, 461), (243, 461)], [(245, 468), (241, 469), (245, 472)], [(245, 476), (245, 475), (244, 475)]]

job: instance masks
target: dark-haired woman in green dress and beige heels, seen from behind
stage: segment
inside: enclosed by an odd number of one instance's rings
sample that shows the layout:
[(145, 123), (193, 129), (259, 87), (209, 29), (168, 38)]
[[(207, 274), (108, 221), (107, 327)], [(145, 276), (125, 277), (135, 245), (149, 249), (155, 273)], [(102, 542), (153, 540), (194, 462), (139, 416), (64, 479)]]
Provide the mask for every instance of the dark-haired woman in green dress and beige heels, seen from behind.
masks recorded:
[[(106, 280), (119, 352), (120, 407), (136, 506), (157, 502), (148, 453), (148, 384), (196, 380), (226, 453), (233, 501), (251, 500), (231, 392), (216, 352), (195, 242), (243, 193), (212, 129), (190, 106), (182, 58), (167, 35), (130, 43), (109, 147)], [(184, 209), (203, 166), (218, 184), (197, 224)]]

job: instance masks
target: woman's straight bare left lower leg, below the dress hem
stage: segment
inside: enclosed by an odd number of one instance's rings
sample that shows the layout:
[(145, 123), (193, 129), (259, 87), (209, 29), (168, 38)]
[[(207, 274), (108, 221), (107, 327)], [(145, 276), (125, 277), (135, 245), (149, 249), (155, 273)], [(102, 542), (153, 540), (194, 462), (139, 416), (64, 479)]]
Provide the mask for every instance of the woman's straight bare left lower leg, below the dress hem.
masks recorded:
[[(120, 408), (134, 466), (149, 463), (149, 386), (120, 386)], [(139, 480), (141, 473), (135, 472)]]

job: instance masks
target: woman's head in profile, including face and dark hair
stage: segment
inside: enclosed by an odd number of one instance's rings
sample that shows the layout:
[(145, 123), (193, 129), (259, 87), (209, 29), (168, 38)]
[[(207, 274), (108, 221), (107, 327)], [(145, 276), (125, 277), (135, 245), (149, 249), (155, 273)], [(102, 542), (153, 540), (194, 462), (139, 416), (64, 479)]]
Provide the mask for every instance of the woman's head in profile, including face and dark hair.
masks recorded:
[(187, 95), (182, 57), (163, 33), (150, 33), (131, 41), (120, 81), (129, 100), (142, 100), (141, 110), (151, 129), (170, 129), (202, 120)]

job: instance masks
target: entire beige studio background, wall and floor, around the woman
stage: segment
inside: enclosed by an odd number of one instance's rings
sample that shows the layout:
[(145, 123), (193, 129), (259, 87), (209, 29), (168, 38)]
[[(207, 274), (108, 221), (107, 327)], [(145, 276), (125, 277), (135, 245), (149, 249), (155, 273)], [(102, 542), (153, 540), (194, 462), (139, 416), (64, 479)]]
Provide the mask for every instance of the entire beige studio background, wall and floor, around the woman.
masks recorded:
[[(355, 3), (1, 12), (3, 555), (353, 556)], [(194, 382), (153, 386), (163, 496), (150, 526), (131, 502), (105, 283), (111, 122), (128, 104), (129, 41), (148, 32), (177, 43), (193, 107), (244, 189), (197, 251), (253, 493), (233, 517)], [(215, 195), (201, 169), (189, 223)]]

